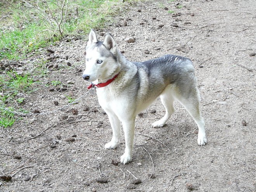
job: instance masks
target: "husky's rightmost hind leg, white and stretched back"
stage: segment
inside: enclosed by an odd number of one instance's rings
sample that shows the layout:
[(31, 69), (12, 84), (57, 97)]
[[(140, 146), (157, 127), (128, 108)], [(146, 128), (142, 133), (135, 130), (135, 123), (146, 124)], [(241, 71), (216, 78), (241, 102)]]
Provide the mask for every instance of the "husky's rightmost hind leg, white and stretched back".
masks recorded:
[[(197, 142), (199, 145), (205, 145), (207, 143), (205, 134), (204, 118), (202, 118), (199, 109), (199, 93), (197, 88), (190, 90), (190, 94), (176, 98), (189, 112), (189, 114), (194, 118), (198, 126), (198, 138)], [(189, 95), (189, 96), (188, 96)]]

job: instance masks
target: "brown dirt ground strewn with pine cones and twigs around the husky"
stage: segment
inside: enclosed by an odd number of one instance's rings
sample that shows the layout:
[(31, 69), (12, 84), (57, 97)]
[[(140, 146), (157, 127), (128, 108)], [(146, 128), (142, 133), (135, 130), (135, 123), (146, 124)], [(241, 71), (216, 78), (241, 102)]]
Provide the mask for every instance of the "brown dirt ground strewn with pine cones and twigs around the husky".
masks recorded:
[[(12, 176), (0, 180), (0, 191), (255, 192), (255, 1), (139, 3), (116, 16), (106, 31), (97, 31), (101, 40), (106, 32), (131, 61), (165, 54), (192, 59), (208, 144), (197, 145), (197, 126), (178, 103), (166, 126), (152, 128), (164, 115), (157, 99), (137, 117), (133, 161), (118, 163), (124, 138), (117, 149), (104, 149), (111, 126), (81, 78), (86, 40), (63, 40), (50, 47), (51, 55), (40, 49), (39, 56), (5, 64), (6, 70), (24, 73), (36, 71), (42, 58), (58, 66), (48, 66), (35, 92), (22, 95), (21, 106), (38, 116), (0, 130), (0, 175)], [(127, 37), (135, 42), (126, 43)], [(49, 85), (52, 81), (63, 85)], [(68, 105), (67, 97), (82, 98)], [(132, 184), (135, 178), (141, 183)]]

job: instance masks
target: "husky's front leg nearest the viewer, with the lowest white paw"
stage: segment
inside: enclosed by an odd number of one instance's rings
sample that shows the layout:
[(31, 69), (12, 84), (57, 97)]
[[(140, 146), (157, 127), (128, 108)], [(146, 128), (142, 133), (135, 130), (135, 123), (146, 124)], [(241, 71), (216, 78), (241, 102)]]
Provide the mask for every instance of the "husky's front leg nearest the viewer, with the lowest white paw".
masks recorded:
[(121, 163), (127, 164), (131, 161), (133, 142), (134, 142), (134, 127), (135, 118), (122, 121), (125, 133), (125, 153), (121, 156)]

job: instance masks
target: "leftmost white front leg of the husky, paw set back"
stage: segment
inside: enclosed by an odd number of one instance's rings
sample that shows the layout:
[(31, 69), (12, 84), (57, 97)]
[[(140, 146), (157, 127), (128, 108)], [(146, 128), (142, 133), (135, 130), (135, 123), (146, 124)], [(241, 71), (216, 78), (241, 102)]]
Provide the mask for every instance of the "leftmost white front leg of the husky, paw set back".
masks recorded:
[[(107, 112), (107, 111), (106, 111)], [(109, 121), (112, 127), (113, 136), (110, 142), (105, 144), (105, 149), (115, 149), (118, 146), (119, 139), (121, 137), (121, 122), (119, 121), (116, 114), (113, 112), (107, 112), (109, 116)]]

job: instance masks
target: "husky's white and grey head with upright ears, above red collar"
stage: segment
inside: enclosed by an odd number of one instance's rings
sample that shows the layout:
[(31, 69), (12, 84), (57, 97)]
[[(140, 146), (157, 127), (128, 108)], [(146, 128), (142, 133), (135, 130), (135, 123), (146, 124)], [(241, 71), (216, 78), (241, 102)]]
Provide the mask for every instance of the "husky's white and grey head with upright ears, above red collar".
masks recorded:
[(120, 67), (117, 57), (118, 50), (113, 36), (107, 33), (104, 42), (101, 42), (95, 31), (91, 29), (86, 46), (83, 79), (86, 81), (108, 80)]

